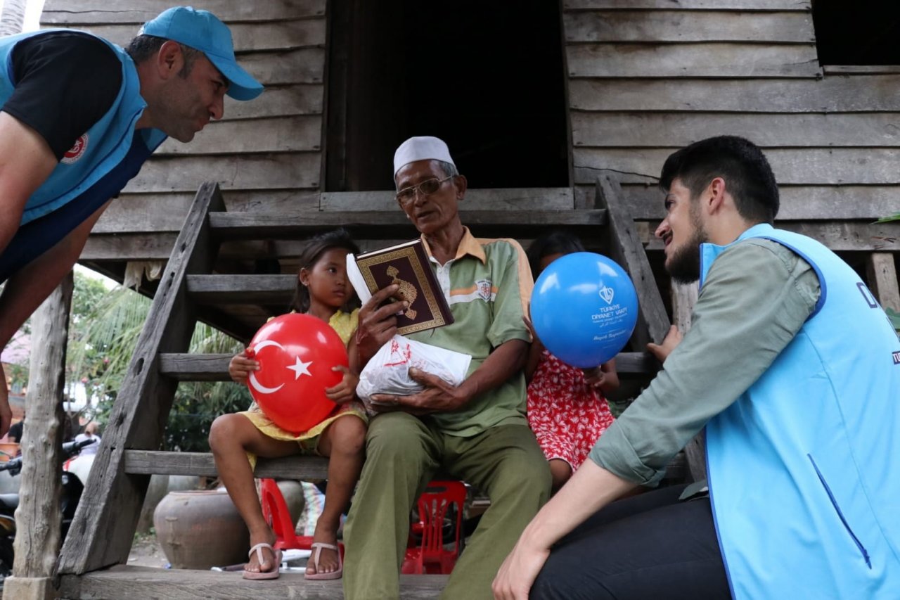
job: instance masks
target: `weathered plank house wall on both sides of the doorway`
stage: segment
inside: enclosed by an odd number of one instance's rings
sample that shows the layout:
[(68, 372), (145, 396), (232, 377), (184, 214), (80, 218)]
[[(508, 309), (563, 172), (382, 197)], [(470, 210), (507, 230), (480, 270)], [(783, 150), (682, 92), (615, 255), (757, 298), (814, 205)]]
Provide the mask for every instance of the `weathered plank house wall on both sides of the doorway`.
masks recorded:
[[(41, 24), (125, 43), (170, 4), (47, 0)], [(205, 179), (220, 181), (229, 210), (356, 203), (353, 195), (320, 195), (327, 0), (198, 7), (229, 23), (238, 58), (266, 93), (229, 100), (225, 118), (190, 144), (167, 141), (103, 215), (88, 258), (166, 258)], [(779, 218), (819, 223), (835, 248), (870, 247), (867, 224), (896, 212), (900, 71), (822, 68), (809, 0), (562, 0), (562, 7), (575, 206), (591, 205), (595, 178), (613, 171), (652, 231), (662, 218), (655, 184), (664, 159), (691, 141), (732, 133), (768, 154), (781, 185)], [(900, 250), (895, 238), (878, 244)]]

